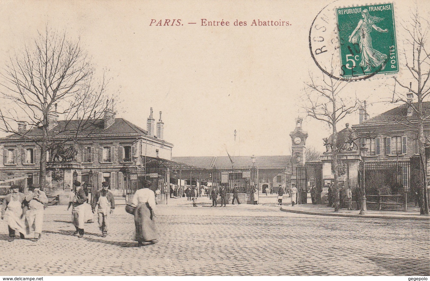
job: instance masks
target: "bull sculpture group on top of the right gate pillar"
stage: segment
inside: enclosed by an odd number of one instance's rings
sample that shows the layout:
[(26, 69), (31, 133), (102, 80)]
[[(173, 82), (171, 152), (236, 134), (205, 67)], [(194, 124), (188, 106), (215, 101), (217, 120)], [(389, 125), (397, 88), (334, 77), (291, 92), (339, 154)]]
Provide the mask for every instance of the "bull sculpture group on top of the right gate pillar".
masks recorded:
[(333, 152), (335, 148), (337, 151), (356, 151), (359, 146), (357, 140), (359, 136), (356, 131), (350, 128), (349, 124), (346, 123), (346, 128), (338, 132), (336, 144), (333, 144), (333, 135), (330, 137), (323, 138), (324, 146), (326, 147), (326, 153)]

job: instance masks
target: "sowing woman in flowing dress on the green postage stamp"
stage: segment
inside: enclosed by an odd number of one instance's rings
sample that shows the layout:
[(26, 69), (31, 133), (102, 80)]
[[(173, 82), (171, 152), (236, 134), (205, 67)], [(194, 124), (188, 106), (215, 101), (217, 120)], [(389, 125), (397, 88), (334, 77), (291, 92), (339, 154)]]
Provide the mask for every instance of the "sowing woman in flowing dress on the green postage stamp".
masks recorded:
[(349, 42), (353, 44), (358, 44), (361, 52), (360, 66), (364, 67), (364, 71), (371, 71), (370, 67), (379, 67), (381, 65), (381, 70), (385, 68), (387, 55), (381, 54), (377, 50), (373, 49), (372, 37), (370, 32), (372, 28), (378, 32), (388, 32), (388, 29), (383, 30), (381, 27), (376, 26), (376, 23), (384, 20), (384, 18), (378, 18), (369, 15), (369, 11), (364, 9), (361, 13), (363, 17), (357, 24), (352, 34), (349, 37)]

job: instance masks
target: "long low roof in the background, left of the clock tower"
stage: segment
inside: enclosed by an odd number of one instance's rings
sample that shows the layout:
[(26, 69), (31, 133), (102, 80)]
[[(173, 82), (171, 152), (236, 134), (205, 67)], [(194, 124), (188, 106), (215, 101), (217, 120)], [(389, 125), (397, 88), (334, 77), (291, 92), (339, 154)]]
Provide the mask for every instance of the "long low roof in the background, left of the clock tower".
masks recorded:
[[(232, 156), (233, 158), (233, 156)], [(202, 168), (231, 167), (228, 156), (217, 156), (211, 166), (212, 156), (172, 157), (173, 161), (187, 163)], [(259, 169), (285, 169), (289, 165), (291, 156), (255, 156), (255, 165)], [(235, 156), (234, 166), (252, 166), (251, 156)]]

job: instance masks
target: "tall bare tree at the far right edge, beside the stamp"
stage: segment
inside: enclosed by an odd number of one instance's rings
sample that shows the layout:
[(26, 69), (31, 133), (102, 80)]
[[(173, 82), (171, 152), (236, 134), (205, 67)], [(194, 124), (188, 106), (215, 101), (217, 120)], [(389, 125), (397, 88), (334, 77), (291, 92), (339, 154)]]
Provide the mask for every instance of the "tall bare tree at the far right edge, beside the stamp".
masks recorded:
[[(419, 173), (421, 180), (418, 184), (418, 204), (421, 207), (420, 213), (428, 215), (429, 209), (426, 188), (427, 157), (425, 149), (429, 144), (426, 141), (426, 135), (424, 133), (424, 121), (429, 120), (430, 114), (428, 111), (423, 109), (423, 102), (428, 100), (428, 96), (430, 94), (430, 85), (427, 83), (430, 77), (430, 53), (427, 42), (428, 31), (430, 28), (429, 14), (427, 13), (426, 18), (424, 18), (418, 13), (418, 9), (416, 9), (415, 12), (412, 13), (412, 17), (408, 21), (402, 23), (402, 27), (406, 34), (404, 44), (405, 49), (403, 49), (406, 61), (405, 66), (411, 74), (409, 81), (412, 80), (415, 82), (408, 83), (408, 81), (393, 77), (395, 80), (395, 86), (391, 102), (405, 102), (417, 116), (416, 120), (406, 120), (402, 122), (402, 124), (417, 130), (421, 162)], [(396, 90), (396, 85), (399, 85), (403, 90), (408, 90), (408, 93)], [(412, 101), (413, 95), (417, 96), (417, 103)]]

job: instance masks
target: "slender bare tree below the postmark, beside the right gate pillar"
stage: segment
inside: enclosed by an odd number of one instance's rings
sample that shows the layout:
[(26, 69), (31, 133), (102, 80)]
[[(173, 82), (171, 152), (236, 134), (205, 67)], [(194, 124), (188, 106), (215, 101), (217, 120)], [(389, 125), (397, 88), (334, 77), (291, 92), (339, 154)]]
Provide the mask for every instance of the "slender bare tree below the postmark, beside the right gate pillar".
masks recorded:
[[(335, 67), (328, 73), (333, 74)], [(332, 129), (331, 143), (332, 149), (332, 168), (334, 174), (334, 202), (335, 212), (339, 211), (339, 185), (338, 185), (338, 123), (350, 113), (358, 109), (360, 104), (356, 97), (342, 95), (348, 82), (337, 79), (333, 75), (326, 75), (321, 71), (321, 75), (313, 77), (310, 73), (310, 82), (305, 82), (304, 105), (302, 108), (308, 116), (322, 121)]]

